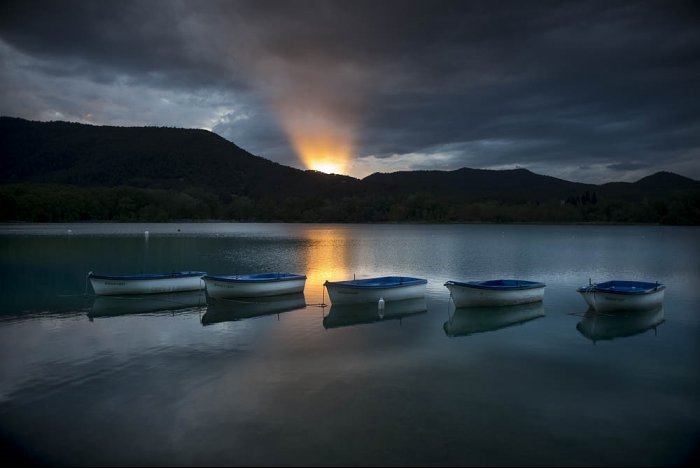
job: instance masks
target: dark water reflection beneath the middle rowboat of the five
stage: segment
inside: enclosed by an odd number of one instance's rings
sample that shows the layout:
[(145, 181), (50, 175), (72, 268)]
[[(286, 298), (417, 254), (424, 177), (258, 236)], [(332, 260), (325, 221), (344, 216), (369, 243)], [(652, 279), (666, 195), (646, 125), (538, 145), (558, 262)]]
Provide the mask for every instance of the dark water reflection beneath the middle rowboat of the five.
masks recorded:
[(332, 304), (323, 317), (323, 327), (338, 328), (394, 320), (428, 311), (425, 297), (379, 303)]

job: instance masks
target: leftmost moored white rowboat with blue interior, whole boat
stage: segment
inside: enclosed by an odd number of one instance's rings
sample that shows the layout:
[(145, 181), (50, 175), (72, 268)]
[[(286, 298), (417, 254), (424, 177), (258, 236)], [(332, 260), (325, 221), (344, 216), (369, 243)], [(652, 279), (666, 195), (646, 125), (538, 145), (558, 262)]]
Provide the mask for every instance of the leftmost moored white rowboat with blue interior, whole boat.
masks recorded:
[(88, 273), (92, 289), (98, 296), (124, 294), (158, 294), (204, 289), (204, 271), (173, 271), (137, 275), (96, 275)]

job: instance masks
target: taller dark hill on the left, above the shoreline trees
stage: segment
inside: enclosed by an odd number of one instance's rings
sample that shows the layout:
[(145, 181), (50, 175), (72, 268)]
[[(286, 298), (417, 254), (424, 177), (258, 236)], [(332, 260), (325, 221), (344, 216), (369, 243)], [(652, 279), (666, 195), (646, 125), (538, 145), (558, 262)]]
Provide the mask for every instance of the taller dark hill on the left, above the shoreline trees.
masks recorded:
[(0, 183), (131, 186), (218, 196), (339, 196), (358, 181), (253, 156), (206, 130), (110, 127), (0, 117)]

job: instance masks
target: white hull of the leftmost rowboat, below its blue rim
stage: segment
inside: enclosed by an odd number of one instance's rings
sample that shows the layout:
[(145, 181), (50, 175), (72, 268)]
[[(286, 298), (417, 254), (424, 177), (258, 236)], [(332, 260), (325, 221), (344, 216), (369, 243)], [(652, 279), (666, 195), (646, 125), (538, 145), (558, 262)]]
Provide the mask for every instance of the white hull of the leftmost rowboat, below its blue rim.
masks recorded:
[(204, 289), (199, 276), (154, 279), (90, 278), (90, 284), (98, 296), (126, 294), (158, 294)]

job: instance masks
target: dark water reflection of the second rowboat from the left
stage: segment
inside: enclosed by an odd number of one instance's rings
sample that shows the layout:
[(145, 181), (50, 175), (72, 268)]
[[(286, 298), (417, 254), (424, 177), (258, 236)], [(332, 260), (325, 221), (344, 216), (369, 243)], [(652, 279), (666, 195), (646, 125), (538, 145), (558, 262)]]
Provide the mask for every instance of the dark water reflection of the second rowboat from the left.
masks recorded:
[(304, 293), (242, 299), (208, 298), (207, 311), (202, 316), (202, 325), (281, 314), (304, 307), (306, 307)]

